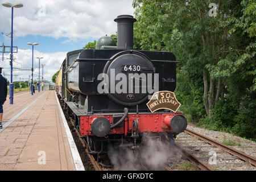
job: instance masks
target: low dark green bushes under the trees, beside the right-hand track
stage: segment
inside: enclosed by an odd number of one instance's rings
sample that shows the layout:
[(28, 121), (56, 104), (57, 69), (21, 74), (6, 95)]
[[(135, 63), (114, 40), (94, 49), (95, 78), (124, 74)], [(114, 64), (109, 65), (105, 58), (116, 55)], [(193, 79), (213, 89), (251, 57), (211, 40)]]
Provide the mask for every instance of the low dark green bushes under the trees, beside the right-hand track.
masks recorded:
[[(239, 106), (239, 105), (238, 105)], [(210, 117), (201, 118), (197, 125), (209, 130), (225, 131), (240, 137), (256, 139), (256, 101), (246, 98), (237, 105), (228, 100), (218, 101)], [(237, 111), (238, 110), (238, 111)]]

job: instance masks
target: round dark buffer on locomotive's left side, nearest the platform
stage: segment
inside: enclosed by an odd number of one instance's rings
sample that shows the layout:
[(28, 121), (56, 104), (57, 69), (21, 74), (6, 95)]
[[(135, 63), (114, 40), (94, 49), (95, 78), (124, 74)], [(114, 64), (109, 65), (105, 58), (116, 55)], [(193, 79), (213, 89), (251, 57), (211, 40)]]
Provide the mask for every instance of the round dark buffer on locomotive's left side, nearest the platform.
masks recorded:
[(105, 137), (110, 131), (110, 122), (107, 118), (100, 117), (94, 119), (92, 123), (92, 133), (97, 137)]

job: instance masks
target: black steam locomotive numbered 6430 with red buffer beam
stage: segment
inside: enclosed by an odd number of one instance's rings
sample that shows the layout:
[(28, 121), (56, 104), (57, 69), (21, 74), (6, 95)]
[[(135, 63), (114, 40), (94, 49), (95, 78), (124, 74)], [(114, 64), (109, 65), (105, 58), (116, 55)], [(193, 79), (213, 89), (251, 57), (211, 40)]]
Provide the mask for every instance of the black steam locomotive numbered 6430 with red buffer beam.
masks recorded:
[(146, 105), (158, 90), (174, 92), (176, 57), (167, 51), (133, 49), (131, 15), (119, 15), (117, 46), (109, 36), (96, 48), (68, 52), (56, 76), (56, 93), (73, 118), (90, 154), (108, 151), (107, 143), (135, 150), (143, 136), (175, 138), (187, 127), (181, 113)]

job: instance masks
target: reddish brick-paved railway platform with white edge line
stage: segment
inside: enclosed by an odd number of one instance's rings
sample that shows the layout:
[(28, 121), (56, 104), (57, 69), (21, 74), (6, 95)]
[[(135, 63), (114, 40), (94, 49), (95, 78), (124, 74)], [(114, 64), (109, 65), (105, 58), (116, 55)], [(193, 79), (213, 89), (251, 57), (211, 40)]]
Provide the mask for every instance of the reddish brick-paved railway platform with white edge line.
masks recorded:
[(54, 90), (7, 98), (2, 125), (0, 170), (84, 170)]

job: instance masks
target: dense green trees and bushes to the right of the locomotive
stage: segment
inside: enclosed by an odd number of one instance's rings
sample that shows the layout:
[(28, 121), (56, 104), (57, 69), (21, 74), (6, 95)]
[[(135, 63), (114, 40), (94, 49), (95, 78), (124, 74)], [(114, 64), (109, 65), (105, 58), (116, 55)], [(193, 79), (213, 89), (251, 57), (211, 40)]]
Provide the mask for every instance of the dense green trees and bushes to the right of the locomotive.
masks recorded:
[[(209, 16), (212, 2), (217, 16)], [(256, 138), (255, 0), (134, 0), (133, 6), (134, 48), (168, 49), (181, 61), (175, 94), (188, 120)]]

